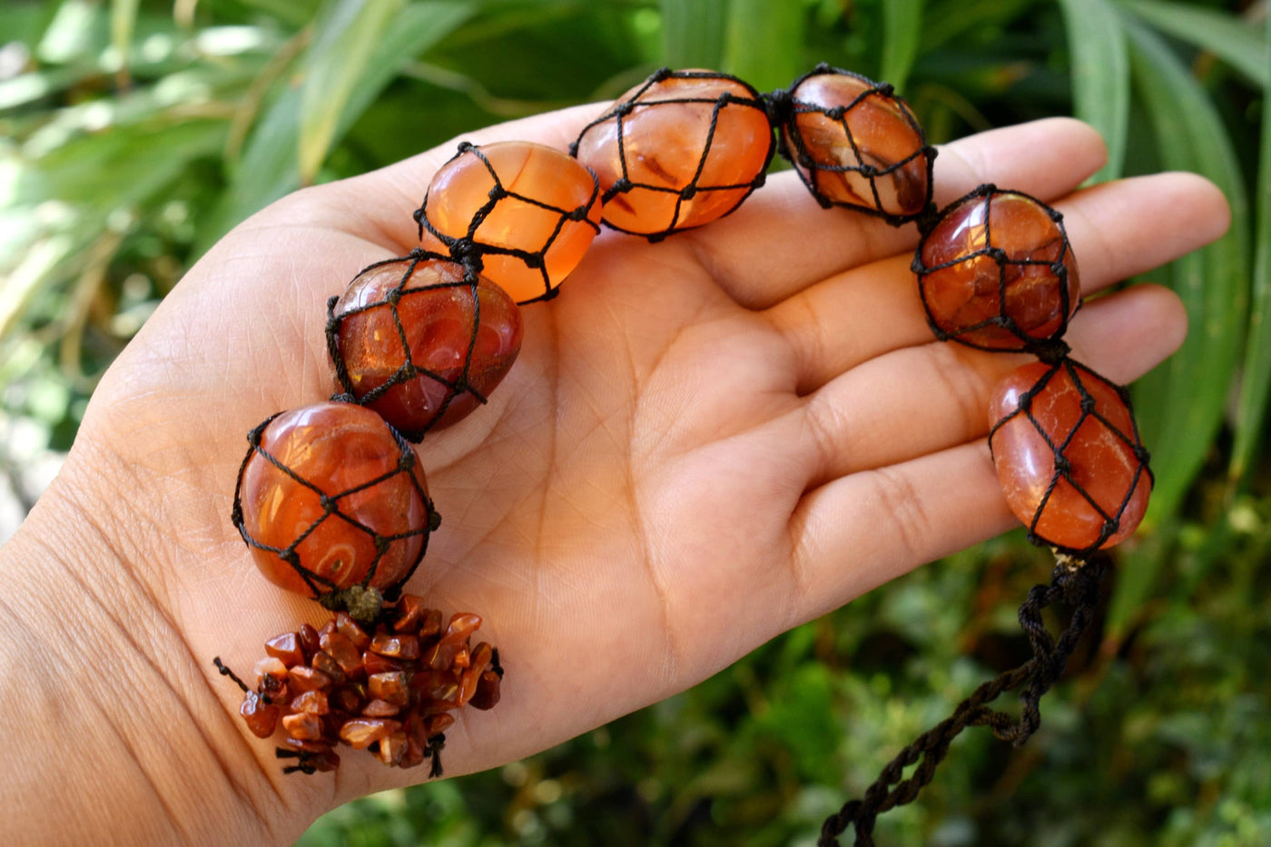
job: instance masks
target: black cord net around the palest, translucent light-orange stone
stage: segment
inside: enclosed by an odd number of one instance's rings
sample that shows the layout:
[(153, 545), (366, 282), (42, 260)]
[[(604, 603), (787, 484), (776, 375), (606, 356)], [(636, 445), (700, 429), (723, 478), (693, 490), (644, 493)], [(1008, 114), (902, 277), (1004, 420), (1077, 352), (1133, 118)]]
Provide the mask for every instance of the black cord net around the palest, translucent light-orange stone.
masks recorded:
[[(538, 300), (550, 300), (557, 295), (561, 280), (552, 280), (549, 277), (547, 254), (548, 251), (552, 249), (557, 238), (559, 238), (562, 230), (569, 224), (582, 224), (590, 226), (597, 233), (600, 231), (600, 228), (588, 217), (591, 210), (597, 202), (600, 202), (600, 183), (596, 179), (596, 174), (591, 174), (592, 192), (587, 202), (573, 209), (562, 209), (559, 206), (545, 203), (541, 200), (510, 191), (503, 184), (503, 181), (500, 178), (494, 165), (491, 164), (489, 158), (482, 153), (482, 149), (477, 145), (469, 144), (468, 141), (460, 142), (459, 153), (456, 153), (450, 162), (455, 162), (464, 156), (472, 156), (480, 162), (489, 173), (489, 178), (494, 183), (489, 189), (489, 200), (473, 214), (472, 221), (468, 224), (468, 231), (464, 235), (454, 237), (444, 234), (437, 229), (433, 221), (428, 219), (428, 196), (425, 195), (423, 203), (414, 210), (414, 220), (419, 225), (419, 239), (422, 240), (423, 234), (427, 231), (432, 238), (441, 242), (450, 251), (450, 256), (447, 258), (463, 262), (478, 273), (482, 271), (484, 259), (488, 256), (507, 256), (516, 258), (526, 267), (538, 271), (543, 277), (543, 293), (538, 296), (517, 300), (517, 304), (525, 305), (526, 303), (535, 303)], [(482, 224), (486, 223), (496, 209), (506, 203), (521, 203), (524, 206), (530, 206), (541, 214), (555, 216), (550, 228), (552, 231), (538, 249), (526, 251), (512, 248), (502, 244), (493, 244), (483, 239), (483, 234), (480, 231)]]

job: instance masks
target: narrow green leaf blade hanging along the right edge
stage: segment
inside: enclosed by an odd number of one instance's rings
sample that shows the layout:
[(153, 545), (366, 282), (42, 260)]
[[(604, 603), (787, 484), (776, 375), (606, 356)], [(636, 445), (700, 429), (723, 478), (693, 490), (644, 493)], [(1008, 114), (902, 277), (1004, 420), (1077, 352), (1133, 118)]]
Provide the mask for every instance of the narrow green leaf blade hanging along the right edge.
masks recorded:
[[(1271, 18), (1262, 46), (1262, 66), (1271, 78)], [(1240, 401), (1235, 416), (1235, 445), (1230, 476), (1239, 481), (1249, 472), (1262, 440), (1267, 393), (1271, 389), (1271, 108), (1262, 100), (1262, 153), (1257, 181), (1257, 231), (1253, 259), (1253, 303), (1249, 341), (1244, 348)]]

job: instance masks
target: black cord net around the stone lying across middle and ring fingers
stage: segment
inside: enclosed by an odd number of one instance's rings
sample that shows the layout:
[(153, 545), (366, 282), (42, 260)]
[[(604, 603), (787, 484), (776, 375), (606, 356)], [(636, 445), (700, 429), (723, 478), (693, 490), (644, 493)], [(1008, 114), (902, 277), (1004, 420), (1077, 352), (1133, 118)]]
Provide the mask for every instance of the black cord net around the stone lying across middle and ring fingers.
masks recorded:
[[(1003, 195), (1022, 197), (1035, 202), (1051, 219), (1051, 221), (1054, 221), (1055, 229), (1057, 230), (1057, 240), (1036, 245), (1030, 251), (1030, 256), (1026, 258), (1012, 258), (1008, 252), (1003, 249), (1003, 239), (994, 233), (991, 224), (994, 200)], [(984, 245), (972, 253), (960, 254), (957, 258), (948, 262), (928, 266), (923, 261), (927, 239), (933, 235), (934, 230), (946, 217), (949, 216), (951, 212), (961, 212), (966, 209), (967, 203), (974, 203), (976, 201), (979, 201), (982, 206), (980, 214), (981, 220), (984, 221), (982, 235), (976, 234), (976, 238), (977, 240), (981, 240)], [(927, 323), (930, 326), (932, 332), (937, 338), (941, 341), (956, 341), (969, 347), (988, 350), (991, 352), (1028, 352), (1037, 356), (1042, 361), (1052, 361), (1068, 352), (1068, 347), (1063, 345), (1063, 342), (1059, 342), (1059, 338), (1061, 338), (1068, 331), (1068, 323), (1075, 310), (1074, 306), (1079, 308), (1080, 303), (1078, 301), (1074, 304), (1070, 299), (1069, 265), (1075, 263), (1075, 259), (1073, 258), (1073, 247), (1068, 240), (1068, 231), (1064, 229), (1063, 215), (1036, 197), (1031, 197), (1021, 191), (999, 189), (996, 186), (990, 183), (979, 186), (975, 191), (953, 201), (941, 210), (934, 219), (920, 221), (920, 228), (923, 230), (923, 244), (920, 244), (918, 251), (914, 253), (913, 271), (918, 275), (918, 291), (923, 300), (923, 309), (927, 313)], [(1045, 258), (1037, 258), (1038, 254), (1043, 254)], [(958, 326), (956, 329), (948, 331), (939, 324), (938, 315), (933, 312), (930, 299), (932, 295), (929, 291), (929, 284), (932, 281), (930, 277), (951, 268), (957, 270), (962, 266), (974, 266), (976, 263), (984, 265), (981, 259), (989, 259), (989, 262), (996, 265), (998, 267), (998, 312), (996, 314), (991, 314), (982, 320), (969, 323), (966, 326)], [(970, 267), (967, 271), (974, 272), (970, 271)], [(1014, 300), (1010, 291), (1012, 286), (1019, 285), (1021, 277), (1026, 273), (1037, 275), (1038, 271), (1051, 273), (1057, 281), (1054, 284), (1054, 289), (1059, 295), (1059, 304), (1056, 309), (1059, 322), (1057, 327), (1045, 337), (1028, 334), (1028, 332), (1026, 332), (1026, 329), (1021, 327), (1009, 313), (1012, 301)], [(1030, 287), (1032, 289), (1032, 295), (1036, 295), (1036, 291), (1047, 286), (1033, 282)], [(972, 333), (984, 329), (1002, 329), (1005, 333), (1014, 336), (1017, 341), (1016, 343), (1009, 343), (1008, 341), (1000, 345), (986, 345), (969, 337)]]

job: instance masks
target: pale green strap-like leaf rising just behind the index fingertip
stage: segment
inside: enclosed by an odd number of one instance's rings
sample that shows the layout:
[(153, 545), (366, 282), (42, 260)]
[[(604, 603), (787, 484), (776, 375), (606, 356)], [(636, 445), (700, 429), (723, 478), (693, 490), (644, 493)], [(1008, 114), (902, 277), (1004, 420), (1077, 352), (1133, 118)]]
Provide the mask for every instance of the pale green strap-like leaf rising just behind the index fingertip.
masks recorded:
[(1130, 121), (1130, 57), (1121, 15), (1107, 0), (1060, 0), (1073, 55), (1073, 108), (1103, 136), (1108, 162), (1094, 182), (1116, 179)]

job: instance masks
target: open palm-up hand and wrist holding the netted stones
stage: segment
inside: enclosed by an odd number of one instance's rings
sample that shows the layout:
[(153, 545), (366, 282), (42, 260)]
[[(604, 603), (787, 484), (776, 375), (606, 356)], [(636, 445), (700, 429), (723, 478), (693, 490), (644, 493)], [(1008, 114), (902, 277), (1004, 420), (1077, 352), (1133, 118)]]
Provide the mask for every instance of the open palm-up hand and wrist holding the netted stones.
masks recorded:
[[(597, 111), (469, 137), (563, 148)], [(10, 841), (290, 843), (327, 809), (426, 776), (346, 752), (334, 776), (282, 777), (211, 659), (247, 673), (266, 638), (322, 619), (255, 572), (230, 525), (244, 434), (332, 393), (324, 301), (413, 245), (411, 210), (452, 150), (252, 217), (102, 380), (61, 476), (0, 549)], [(1057, 201), (1087, 294), (1225, 229), (1221, 196), (1191, 176), (1070, 195), (1102, 163), (1073, 121), (984, 134), (942, 153), (937, 200), (993, 181)], [(445, 520), (409, 590), (482, 614), (508, 670), (498, 707), (447, 733), (449, 773), (683, 691), (1012, 525), (985, 408), (1022, 360), (932, 341), (914, 243), (779, 174), (703, 230), (604, 234), (557, 300), (525, 309), (489, 407), (421, 449)], [(1129, 380), (1183, 329), (1177, 299), (1140, 286), (1087, 305), (1069, 340)]]

